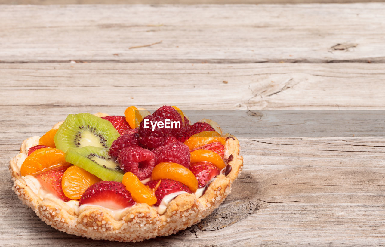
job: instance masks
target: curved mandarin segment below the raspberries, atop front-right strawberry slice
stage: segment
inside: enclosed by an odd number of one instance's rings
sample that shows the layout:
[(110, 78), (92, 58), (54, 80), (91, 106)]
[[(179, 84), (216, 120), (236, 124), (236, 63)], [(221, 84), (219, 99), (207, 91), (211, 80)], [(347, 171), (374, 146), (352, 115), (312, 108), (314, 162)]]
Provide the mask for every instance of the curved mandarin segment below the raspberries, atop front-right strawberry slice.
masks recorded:
[(172, 162), (161, 162), (154, 167), (151, 174), (152, 180), (169, 178), (179, 181), (189, 187), (192, 192), (198, 189), (198, 180), (186, 167)]

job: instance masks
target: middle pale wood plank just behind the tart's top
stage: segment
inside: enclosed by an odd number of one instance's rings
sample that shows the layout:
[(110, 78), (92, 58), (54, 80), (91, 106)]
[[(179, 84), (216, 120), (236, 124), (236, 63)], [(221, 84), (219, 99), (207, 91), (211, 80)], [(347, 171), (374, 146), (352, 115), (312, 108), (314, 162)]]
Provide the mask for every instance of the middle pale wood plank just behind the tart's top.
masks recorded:
[[(129, 105), (156, 109), (160, 104), (184, 110), (385, 109), (383, 68), (365, 63), (0, 64), (0, 99), (8, 114), (10, 106), (34, 106), (40, 114), (60, 109), (62, 116), (80, 109), (121, 114)], [(66, 111), (67, 106), (72, 108)]]

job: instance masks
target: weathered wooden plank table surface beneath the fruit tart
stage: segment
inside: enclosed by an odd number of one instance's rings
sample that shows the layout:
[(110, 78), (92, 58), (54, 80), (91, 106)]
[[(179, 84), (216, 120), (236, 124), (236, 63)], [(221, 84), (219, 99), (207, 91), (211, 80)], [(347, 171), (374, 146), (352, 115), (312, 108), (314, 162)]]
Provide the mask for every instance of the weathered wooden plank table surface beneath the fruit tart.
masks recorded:
[[(67, 114), (384, 110), (384, 13), (384, 3), (0, 6), (0, 245), (111, 244), (58, 232), (11, 190), (21, 142)], [(376, 133), (240, 137), (244, 170), (217, 213), (114, 246), (385, 244)]]

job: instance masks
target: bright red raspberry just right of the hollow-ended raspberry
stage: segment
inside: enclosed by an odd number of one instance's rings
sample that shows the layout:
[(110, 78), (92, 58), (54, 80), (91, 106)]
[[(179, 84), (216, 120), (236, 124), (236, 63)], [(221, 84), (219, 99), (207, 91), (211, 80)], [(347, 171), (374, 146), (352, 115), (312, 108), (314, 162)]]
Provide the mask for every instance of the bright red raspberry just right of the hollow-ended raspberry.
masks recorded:
[(154, 150), (157, 156), (157, 164), (161, 162), (173, 162), (189, 168), (190, 165), (190, 149), (180, 141), (160, 146)]

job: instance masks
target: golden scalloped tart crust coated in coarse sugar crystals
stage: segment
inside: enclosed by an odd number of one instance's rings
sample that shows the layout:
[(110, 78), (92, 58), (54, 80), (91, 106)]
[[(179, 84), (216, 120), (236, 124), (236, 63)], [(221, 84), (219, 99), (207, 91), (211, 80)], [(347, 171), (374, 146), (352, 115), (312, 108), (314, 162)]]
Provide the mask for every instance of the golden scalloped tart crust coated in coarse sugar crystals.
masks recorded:
[[(156, 208), (146, 203), (137, 203), (126, 208), (119, 219), (114, 213), (99, 206), (87, 205), (80, 210), (53, 196), (40, 197), (39, 188), (34, 188), (20, 176), (20, 166), (31, 146), (38, 145), (34, 136), (23, 141), (20, 153), (10, 160), (9, 170), (14, 181), (13, 191), (23, 204), (32, 208), (45, 223), (61, 232), (96, 240), (137, 242), (157, 236), (168, 236), (191, 227), (217, 208), (231, 191), (231, 183), (241, 173), (243, 158), (239, 156), (239, 142), (235, 136), (226, 137), (225, 159), (231, 172), (216, 176), (206, 192), (197, 198), (183, 193), (171, 200), (166, 212), (157, 213)], [(232, 157), (230, 157), (232, 156)], [(79, 212), (77, 212), (79, 211)]]

